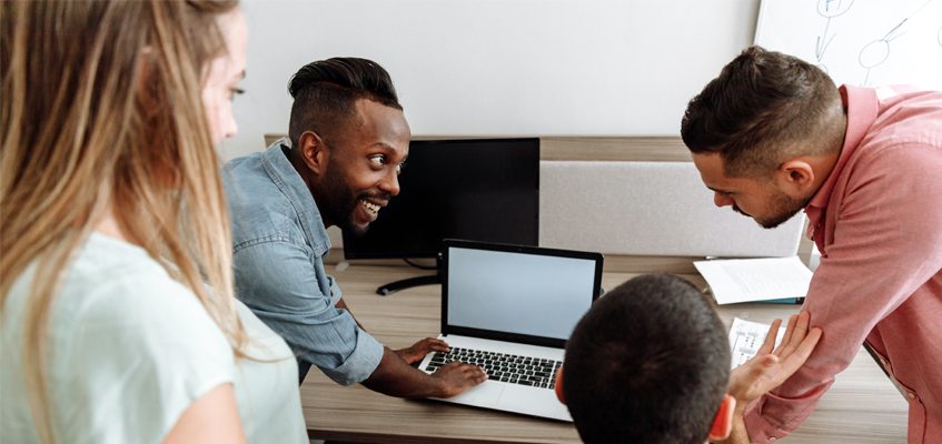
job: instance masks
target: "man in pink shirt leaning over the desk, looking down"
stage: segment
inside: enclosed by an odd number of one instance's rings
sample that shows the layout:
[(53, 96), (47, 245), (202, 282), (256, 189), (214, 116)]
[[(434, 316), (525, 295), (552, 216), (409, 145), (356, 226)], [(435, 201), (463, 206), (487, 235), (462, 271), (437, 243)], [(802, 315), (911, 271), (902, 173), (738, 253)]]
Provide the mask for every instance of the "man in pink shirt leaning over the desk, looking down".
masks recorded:
[(734, 438), (796, 428), (866, 342), (908, 396), (909, 442), (942, 442), (942, 92), (839, 89), (752, 47), (691, 100), (681, 132), (716, 205), (765, 228), (804, 209), (822, 254), (803, 310), (824, 336)]

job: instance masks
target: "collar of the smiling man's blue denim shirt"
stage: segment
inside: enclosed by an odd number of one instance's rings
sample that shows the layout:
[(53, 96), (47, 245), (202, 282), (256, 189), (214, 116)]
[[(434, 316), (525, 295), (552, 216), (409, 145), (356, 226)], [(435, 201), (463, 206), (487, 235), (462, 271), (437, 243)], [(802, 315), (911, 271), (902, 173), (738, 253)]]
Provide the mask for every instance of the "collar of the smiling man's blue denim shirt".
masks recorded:
[(330, 250), (330, 236), (310, 190), (288, 160), (288, 143), (287, 139), (277, 140), (265, 150), (261, 163), (271, 181), (291, 202), (315, 252), (324, 254)]

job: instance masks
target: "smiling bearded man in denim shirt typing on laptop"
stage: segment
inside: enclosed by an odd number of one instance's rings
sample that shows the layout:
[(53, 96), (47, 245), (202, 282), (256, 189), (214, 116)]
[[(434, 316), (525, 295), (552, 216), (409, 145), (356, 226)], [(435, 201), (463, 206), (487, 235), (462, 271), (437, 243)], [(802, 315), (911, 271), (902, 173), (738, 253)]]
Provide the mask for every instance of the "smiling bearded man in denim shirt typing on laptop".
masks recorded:
[[(324, 269), (327, 228), (363, 233), (399, 193), (409, 127), (389, 74), (364, 59), (303, 67), (288, 87), (288, 135), (226, 164), (238, 297), (298, 356), (339, 384), (394, 396), (448, 397), (486, 379), (454, 363), (433, 375), (411, 367), (447, 344), (425, 339), (391, 351), (357, 325)], [(288, 145), (290, 142), (290, 145)]]

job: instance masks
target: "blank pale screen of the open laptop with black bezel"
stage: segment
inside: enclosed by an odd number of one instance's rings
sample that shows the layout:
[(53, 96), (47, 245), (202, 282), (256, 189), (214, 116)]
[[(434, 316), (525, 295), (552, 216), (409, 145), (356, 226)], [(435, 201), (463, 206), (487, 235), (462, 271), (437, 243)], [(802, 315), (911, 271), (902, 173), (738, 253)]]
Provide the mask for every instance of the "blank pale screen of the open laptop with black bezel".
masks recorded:
[(562, 346), (598, 293), (597, 253), (446, 245), (443, 333)]

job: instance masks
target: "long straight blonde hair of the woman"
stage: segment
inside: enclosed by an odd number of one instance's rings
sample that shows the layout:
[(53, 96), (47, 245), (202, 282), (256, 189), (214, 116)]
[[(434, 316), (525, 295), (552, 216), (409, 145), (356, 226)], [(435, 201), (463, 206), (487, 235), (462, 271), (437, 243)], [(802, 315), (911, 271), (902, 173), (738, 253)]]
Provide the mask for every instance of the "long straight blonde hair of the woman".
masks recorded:
[(0, 6), (0, 307), (37, 264), (23, 370), (53, 442), (47, 324), (62, 271), (95, 224), (189, 287), (241, 355), (229, 219), (200, 101), (217, 24), (237, 1), (16, 1)]

